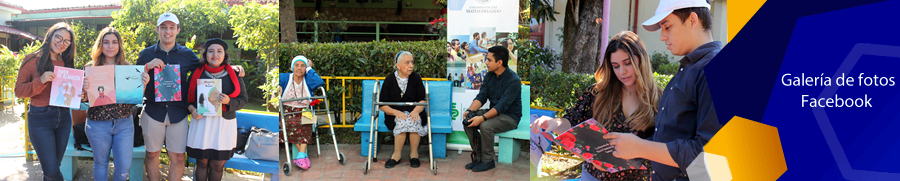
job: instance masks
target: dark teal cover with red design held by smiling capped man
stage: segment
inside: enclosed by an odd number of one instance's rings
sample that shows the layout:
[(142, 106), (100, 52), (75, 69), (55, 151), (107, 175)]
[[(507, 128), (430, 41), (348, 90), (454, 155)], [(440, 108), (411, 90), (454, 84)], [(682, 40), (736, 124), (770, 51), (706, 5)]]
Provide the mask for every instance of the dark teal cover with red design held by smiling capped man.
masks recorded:
[(166, 65), (162, 69), (154, 69), (156, 102), (181, 101), (180, 68), (179, 65)]

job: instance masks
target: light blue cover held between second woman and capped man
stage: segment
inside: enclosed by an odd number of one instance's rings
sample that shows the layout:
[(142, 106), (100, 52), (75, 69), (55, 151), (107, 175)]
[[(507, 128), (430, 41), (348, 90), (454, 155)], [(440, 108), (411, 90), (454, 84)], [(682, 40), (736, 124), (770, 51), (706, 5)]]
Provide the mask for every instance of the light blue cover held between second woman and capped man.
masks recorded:
[(116, 65), (116, 102), (141, 104), (144, 100), (143, 65)]

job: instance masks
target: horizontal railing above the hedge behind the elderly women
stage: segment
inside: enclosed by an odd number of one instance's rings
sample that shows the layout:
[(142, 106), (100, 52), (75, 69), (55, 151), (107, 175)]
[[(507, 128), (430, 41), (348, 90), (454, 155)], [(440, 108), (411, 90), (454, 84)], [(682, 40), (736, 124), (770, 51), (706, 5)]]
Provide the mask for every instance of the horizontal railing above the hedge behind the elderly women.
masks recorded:
[(297, 23), (313, 23), (313, 32), (297, 32), (297, 34), (313, 34), (313, 41), (319, 42), (319, 23), (345, 23), (345, 24), (375, 24), (375, 33), (370, 32), (328, 32), (329, 34), (347, 34), (347, 35), (375, 35), (376, 40), (381, 39), (381, 35), (407, 35), (407, 36), (440, 36), (440, 34), (427, 34), (427, 33), (382, 33), (381, 27), (382, 24), (395, 24), (395, 25), (431, 25), (431, 22), (390, 22), (390, 21), (312, 21), (312, 20), (297, 20)]

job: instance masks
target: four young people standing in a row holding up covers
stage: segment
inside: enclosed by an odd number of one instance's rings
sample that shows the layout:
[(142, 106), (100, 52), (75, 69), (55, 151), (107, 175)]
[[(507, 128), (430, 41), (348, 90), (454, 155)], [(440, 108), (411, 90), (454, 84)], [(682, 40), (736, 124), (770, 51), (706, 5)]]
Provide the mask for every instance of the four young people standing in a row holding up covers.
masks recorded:
[[(228, 63), (228, 43), (214, 38), (203, 45), (201, 57), (176, 43), (181, 31), (178, 18), (172, 13), (159, 16), (156, 23), (158, 42), (139, 54), (137, 65), (144, 65), (141, 77), (144, 90), (144, 109), (140, 116), (146, 148), (144, 165), (150, 180), (159, 180), (159, 154), (165, 142), (170, 167), (168, 180), (181, 180), (184, 154), (195, 158), (195, 180), (221, 180), (225, 161), (233, 155), (237, 139), (235, 112), (248, 101), (247, 89), (241, 78), (243, 68)], [(49, 105), (50, 83), (55, 78), (54, 66), (75, 67), (75, 33), (65, 23), (56, 23), (44, 36), (39, 50), (25, 56), (19, 68), (15, 94), (30, 98), (28, 133), (41, 163), (44, 180), (63, 180), (60, 165), (69, 133), (72, 129), (71, 110)], [(94, 42), (91, 60), (85, 67), (129, 65), (125, 60), (122, 35), (113, 27), (100, 31)], [(154, 97), (156, 81), (147, 72), (165, 65), (180, 65), (182, 101), (157, 102)], [(188, 72), (193, 72), (188, 77)], [(221, 79), (222, 116), (201, 116), (197, 113), (197, 79)], [(91, 80), (84, 80), (87, 89)], [(85, 97), (85, 96), (82, 96)], [(86, 102), (87, 99), (82, 99)], [(107, 180), (110, 152), (114, 160), (114, 180), (127, 180), (132, 158), (134, 104), (109, 104), (87, 110), (85, 133), (94, 154), (94, 179)], [(190, 120), (189, 116), (190, 115)], [(189, 123), (188, 123), (189, 122)]]

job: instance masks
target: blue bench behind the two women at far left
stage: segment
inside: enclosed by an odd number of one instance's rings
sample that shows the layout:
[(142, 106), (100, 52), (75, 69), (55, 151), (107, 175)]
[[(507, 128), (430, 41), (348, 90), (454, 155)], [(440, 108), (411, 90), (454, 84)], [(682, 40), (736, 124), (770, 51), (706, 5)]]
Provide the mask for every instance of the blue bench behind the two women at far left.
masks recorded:
[[(62, 164), (59, 166), (59, 169), (63, 174), (63, 179), (65, 180), (74, 179), (73, 175), (78, 171), (78, 157), (94, 157), (94, 153), (91, 152), (91, 147), (87, 144), (82, 144), (82, 147), (86, 150), (76, 150), (75, 137), (72, 135), (73, 133), (69, 133), (69, 144), (66, 145), (66, 153), (63, 156)], [(131, 154), (131, 169), (128, 171), (128, 179), (132, 181), (144, 180), (144, 157), (147, 155), (147, 151), (144, 150), (144, 146), (134, 147), (131, 150)], [(109, 157), (112, 158), (112, 156), (113, 154), (110, 153)]]

